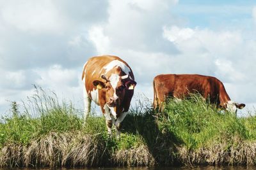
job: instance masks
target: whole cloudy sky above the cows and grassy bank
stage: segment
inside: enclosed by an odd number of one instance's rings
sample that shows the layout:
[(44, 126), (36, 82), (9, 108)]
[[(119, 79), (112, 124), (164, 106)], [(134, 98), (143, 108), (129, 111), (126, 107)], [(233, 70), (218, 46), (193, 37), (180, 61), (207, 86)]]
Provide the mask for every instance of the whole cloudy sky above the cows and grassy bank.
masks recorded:
[(157, 74), (189, 73), (217, 77), (252, 111), (256, 1), (0, 0), (0, 115), (34, 84), (83, 109), (83, 65), (102, 54), (131, 66), (133, 104), (153, 98)]

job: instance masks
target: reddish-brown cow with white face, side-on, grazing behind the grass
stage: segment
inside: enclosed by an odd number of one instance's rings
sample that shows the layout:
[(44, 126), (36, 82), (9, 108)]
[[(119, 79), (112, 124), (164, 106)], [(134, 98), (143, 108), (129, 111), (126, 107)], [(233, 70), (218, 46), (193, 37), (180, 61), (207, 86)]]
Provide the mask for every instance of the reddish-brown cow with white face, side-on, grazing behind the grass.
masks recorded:
[(182, 99), (190, 93), (199, 93), (210, 103), (219, 108), (236, 112), (237, 108), (244, 108), (245, 104), (238, 104), (230, 100), (223, 83), (212, 76), (198, 74), (160, 74), (154, 78), (154, 108), (163, 109), (166, 97)]

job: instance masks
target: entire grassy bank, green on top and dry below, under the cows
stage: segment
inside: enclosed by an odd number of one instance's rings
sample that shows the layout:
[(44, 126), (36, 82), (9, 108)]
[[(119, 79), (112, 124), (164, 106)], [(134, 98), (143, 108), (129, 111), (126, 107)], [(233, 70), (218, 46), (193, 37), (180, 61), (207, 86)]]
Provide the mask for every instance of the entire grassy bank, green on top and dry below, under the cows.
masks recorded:
[(36, 89), (1, 118), (0, 167), (255, 164), (256, 117), (220, 112), (197, 96), (170, 100), (163, 113), (147, 100), (136, 103), (117, 141), (104, 118), (84, 122), (72, 103)]

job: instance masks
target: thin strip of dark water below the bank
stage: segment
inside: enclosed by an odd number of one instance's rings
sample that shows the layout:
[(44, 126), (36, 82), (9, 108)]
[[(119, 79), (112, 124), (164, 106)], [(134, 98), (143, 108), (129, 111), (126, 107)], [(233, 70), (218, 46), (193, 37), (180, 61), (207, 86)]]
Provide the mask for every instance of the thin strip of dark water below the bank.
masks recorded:
[[(70, 170), (72, 168), (61, 168), (60, 170)], [(191, 169), (191, 170), (252, 170), (256, 169), (256, 167), (243, 167), (243, 166), (225, 166), (225, 167), (215, 167), (215, 166), (197, 166), (197, 167), (106, 167), (106, 168), (81, 168), (81, 169), (72, 169), (72, 170), (185, 170), (185, 169)], [(0, 170), (35, 170), (33, 168), (0, 168)], [(42, 169), (36, 169), (36, 170), (52, 170), (48, 168), (42, 168)]]

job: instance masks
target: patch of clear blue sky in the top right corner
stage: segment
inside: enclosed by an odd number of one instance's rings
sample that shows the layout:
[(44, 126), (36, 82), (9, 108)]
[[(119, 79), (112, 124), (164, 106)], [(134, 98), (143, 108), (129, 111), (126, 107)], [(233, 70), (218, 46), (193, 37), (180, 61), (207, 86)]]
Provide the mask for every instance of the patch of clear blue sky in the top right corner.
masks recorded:
[(172, 13), (187, 27), (211, 29), (252, 29), (255, 1), (179, 1)]

